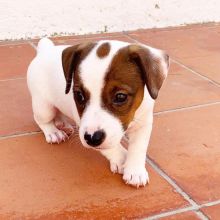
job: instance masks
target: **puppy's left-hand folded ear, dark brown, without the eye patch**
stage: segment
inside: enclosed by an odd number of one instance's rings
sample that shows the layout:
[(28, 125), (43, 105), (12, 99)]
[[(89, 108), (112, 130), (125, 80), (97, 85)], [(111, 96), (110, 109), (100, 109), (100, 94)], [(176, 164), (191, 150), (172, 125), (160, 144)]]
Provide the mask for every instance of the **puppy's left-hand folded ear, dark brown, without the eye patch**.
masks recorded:
[(70, 91), (74, 72), (76, 71), (80, 62), (92, 50), (94, 45), (95, 43), (89, 42), (85, 44), (78, 44), (71, 47), (67, 47), (63, 50), (62, 65), (64, 76), (66, 78), (66, 94), (68, 94)]

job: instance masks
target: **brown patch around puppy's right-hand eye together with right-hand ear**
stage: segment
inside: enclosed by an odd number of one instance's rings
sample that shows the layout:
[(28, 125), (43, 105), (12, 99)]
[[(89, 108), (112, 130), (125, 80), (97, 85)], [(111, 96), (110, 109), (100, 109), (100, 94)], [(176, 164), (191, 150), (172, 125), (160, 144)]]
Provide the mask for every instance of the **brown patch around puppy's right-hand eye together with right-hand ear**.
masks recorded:
[(124, 47), (115, 55), (105, 78), (102, 101), (103, 107), (120, 119), (124, 130), (143, 100), (144, 85), (151, 97), (157, 98), (168, 64), (168, 55), (152, 54), (150, 49), (140, 45)]

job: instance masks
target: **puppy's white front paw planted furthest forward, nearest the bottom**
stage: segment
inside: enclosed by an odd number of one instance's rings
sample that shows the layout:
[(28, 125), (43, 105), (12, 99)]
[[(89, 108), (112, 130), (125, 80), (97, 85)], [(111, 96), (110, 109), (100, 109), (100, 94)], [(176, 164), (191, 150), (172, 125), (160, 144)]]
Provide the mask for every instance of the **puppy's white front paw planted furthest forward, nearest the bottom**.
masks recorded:
[(144, 166), (125, 166), (123, 180), (132, 186), (145, 186), (149, 183), (149, 176)]

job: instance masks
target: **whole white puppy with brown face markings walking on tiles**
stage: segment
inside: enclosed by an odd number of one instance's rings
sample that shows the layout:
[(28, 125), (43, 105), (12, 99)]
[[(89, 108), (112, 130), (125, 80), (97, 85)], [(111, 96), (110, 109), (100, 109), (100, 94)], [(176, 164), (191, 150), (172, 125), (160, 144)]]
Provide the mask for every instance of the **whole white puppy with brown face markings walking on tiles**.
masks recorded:
[(27, 73), (34, 119), (48, 143), (65, 141), (73, 128), (64, 115), (73, 119), (84, 147), (99, 150), (127, 184), (144, 186), (154, 101), (168, 67), (167, 54), (145, 45), (55, 46), (43, 38)]

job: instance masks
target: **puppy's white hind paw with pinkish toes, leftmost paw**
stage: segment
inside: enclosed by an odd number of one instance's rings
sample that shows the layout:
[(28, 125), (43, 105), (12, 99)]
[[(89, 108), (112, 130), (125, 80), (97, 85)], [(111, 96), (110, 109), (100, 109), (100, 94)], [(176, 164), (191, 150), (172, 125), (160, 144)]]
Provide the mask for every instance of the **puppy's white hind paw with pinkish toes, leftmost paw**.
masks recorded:
[(68, 135), (64, 131), (58, 129), (54, 129), (54, 131), (47, 132), (44, 135), (49, 144), (59, 144), (68, 139)]

